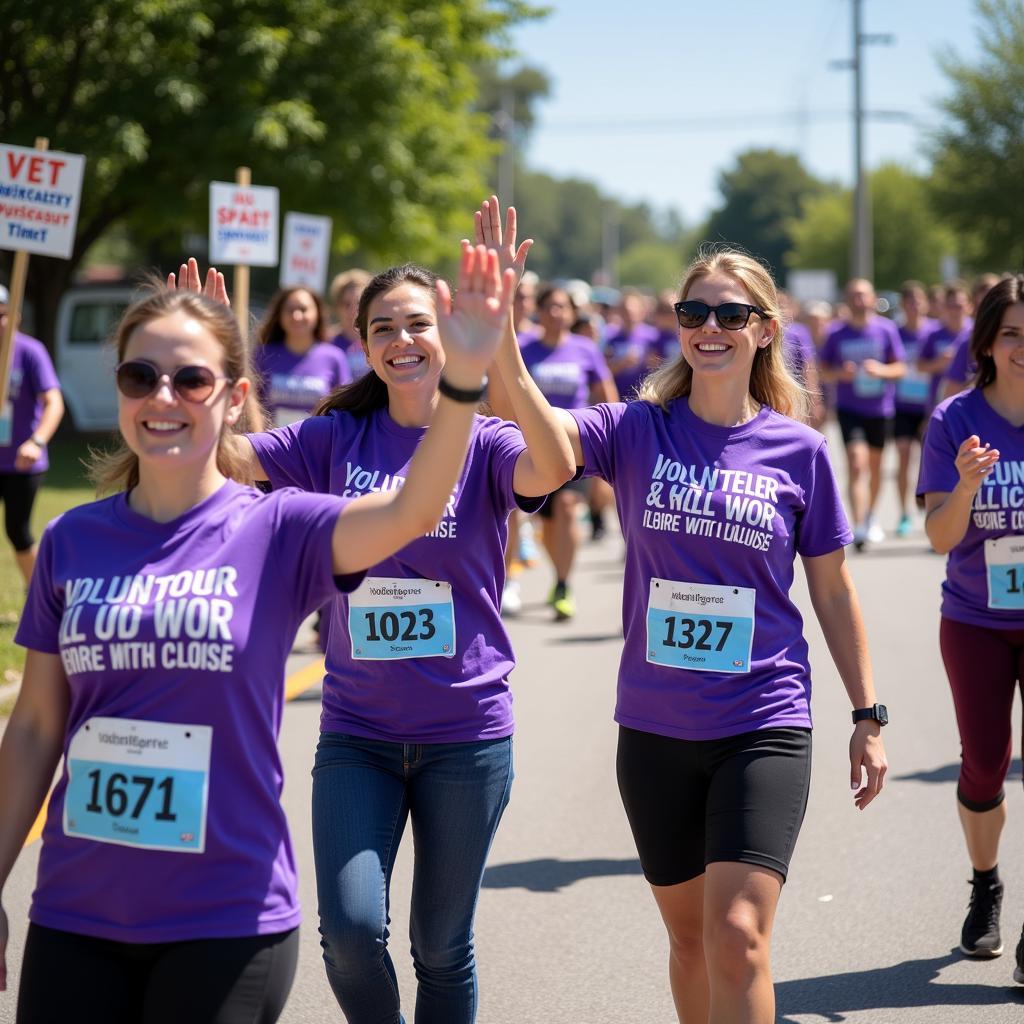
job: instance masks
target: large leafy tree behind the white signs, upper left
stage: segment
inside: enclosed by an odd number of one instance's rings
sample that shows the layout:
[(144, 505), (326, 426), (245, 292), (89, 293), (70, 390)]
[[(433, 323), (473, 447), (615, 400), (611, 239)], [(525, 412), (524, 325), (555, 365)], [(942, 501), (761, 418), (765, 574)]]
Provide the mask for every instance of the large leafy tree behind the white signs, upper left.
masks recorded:
[(72, 259), (32, 261), (40, 333), (112, 225), (177, 250), (206, 231), (209, 181), (242, 164), (283, 208), (333, 216), (339, 252), (447, 255), (493, 151), (471, 69), (532, 13), (523, 0), (0, 0), (0, 137), (87, 158)]

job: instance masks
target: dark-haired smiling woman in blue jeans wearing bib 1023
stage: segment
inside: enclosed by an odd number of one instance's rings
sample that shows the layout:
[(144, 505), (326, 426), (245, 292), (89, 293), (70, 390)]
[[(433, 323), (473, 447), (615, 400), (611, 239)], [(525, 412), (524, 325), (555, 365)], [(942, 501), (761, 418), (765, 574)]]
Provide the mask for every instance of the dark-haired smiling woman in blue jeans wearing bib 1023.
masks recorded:
[[(477, 219), (498, 212), (492, 197)], [(513, 209), (508, 218), (502, 261), (519, 275), (531, 243), (516, 248)], [(439, 287), (415, 264), (367, 285), (356, 327), (370, 372), (308, 420), (250, 434), (256, 475), (274, 487), (342, 496), (403, 486), (410, 457), (449, 390)], [(515, 659), (500, 614), (507, 521), (515, 508), (536, 511), (572, 474), (571, 460), (539, 396), (524, 403), (521, 430), (477, 417), (437, 528), (378, 561), (358, 589), (332, 602), (313, 853), (324, 962), (349, 1024), (403, 1019), (388, 904), (407, 822), (416, 841), (416, 1022), (475, 1020), (473, 916), (513, 775)]]

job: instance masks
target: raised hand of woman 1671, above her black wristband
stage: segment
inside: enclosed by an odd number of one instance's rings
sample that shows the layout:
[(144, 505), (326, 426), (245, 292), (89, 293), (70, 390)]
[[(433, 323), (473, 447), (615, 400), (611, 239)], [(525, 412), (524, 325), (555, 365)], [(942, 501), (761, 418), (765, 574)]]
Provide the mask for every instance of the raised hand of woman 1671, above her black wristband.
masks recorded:
[(501, 271), (498, 253), (463, 243), (459, 291), (437, 282), (437, 327), (444, 346), (444, 379), (454, 387), (479, 387), (508, 324), (515, 295), (515, 270)]

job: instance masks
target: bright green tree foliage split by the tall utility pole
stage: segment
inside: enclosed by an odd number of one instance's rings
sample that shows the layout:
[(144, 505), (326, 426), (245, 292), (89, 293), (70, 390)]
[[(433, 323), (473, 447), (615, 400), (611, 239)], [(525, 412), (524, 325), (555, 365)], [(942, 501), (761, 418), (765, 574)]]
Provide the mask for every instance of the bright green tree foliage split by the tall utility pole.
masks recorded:
[[(870, 175), (874, 225), (874, 284), (895, 291), (908, 279), (938, 280), (942, 257), (956, 251), (955, 239), (933, 209), (927, 180), (897, 164)], [(837, 281), (850, 276), (852, 196), (837, 189), (810, 200), (791, 225), (791, 269), (827, 269)]]

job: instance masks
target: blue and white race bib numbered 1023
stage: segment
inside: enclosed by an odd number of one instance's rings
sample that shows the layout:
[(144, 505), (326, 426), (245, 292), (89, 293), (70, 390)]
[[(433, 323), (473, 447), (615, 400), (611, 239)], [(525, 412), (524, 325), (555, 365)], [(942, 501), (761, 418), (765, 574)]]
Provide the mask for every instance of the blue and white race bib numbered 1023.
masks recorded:
[(348, 597), (356, 660), (455, 656), (452, 584), (368, 577)]

